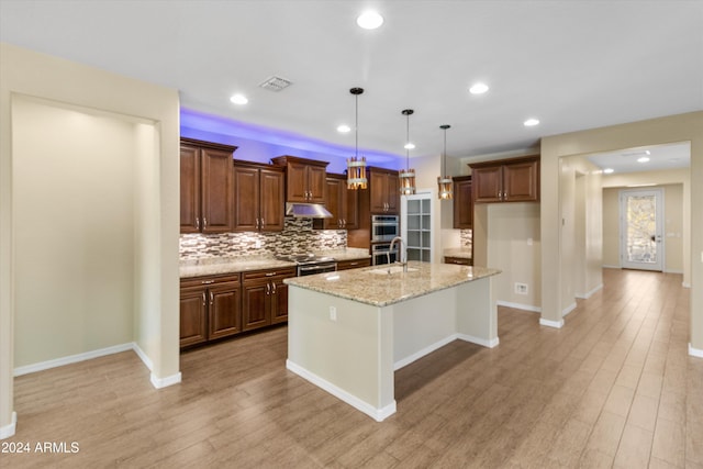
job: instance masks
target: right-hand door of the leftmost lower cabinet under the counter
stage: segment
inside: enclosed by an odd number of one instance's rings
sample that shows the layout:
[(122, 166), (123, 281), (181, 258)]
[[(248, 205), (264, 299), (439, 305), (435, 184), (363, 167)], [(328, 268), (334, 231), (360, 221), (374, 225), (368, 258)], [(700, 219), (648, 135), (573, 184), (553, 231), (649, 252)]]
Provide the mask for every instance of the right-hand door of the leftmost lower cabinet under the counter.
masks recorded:
[(238, 281), (211, 286), (209, 295), (210, 338), (226, 337), (242, 332), (242, 289)]

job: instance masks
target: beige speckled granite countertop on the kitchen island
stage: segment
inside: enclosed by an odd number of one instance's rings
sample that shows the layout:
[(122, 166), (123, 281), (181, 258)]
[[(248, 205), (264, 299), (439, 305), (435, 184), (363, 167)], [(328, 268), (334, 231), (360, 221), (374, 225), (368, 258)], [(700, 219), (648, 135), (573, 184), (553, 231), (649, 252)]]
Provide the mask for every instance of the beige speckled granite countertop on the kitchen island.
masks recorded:
[[(319, 273), (308, 277), (295, 277), (283, 280), (286, 283), (346, 298), (373, 306), (388, 306), (411, 298), (422, 297), (437, 290), (456, 287), (460, 283), (479, 280), (500, 273), (500, 270), (487, 267), (458, 266), (453, 264), (427, 264), (411, 261), (411, 271), (403, 272), (400, 265), (393, 265), (390, 276), (386, 272), (373, 273), (371, 270), (387, 270), (388, 266), (365, 267), (361, 269), (342, 270)], [(413, 270), (414, 269), (414, 270)]]

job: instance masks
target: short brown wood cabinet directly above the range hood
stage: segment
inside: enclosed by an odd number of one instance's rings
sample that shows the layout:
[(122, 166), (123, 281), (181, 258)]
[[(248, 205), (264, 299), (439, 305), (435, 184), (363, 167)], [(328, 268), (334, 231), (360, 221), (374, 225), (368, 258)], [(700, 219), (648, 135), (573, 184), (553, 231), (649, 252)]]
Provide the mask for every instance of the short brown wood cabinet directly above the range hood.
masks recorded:
[(286, 201), (325, 203), (326, 161), (283, 155), (271, 159), (286, 167)]

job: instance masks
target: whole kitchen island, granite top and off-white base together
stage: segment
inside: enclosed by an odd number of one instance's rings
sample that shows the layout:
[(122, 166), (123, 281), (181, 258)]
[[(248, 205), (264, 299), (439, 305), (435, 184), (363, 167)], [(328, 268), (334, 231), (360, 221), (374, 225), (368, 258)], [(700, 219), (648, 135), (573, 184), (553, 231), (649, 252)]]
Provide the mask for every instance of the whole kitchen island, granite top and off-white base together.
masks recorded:
[(410, 263), (287, 279), (287, 368), (378, 422), (393, 372), (455, 340), (498, 345), (499, 270)]

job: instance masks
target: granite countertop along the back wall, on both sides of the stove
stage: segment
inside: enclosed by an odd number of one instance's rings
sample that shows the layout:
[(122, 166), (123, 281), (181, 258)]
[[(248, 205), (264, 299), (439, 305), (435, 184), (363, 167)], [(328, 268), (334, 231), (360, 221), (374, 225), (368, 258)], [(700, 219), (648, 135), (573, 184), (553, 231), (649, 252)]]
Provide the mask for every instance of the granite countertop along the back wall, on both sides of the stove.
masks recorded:
[[(364, 259), (371, 257), (368, 249), (348, 247), (346, 249), (328, 249), (314, 252), (317, 256), (334, 257), (336, 260)], [(181, 260), (179, 266), (180, 278), (193, 278), (216, 276), (223, 273), (236, 273), (250, 270), (278, 269), (295, 267), (295, 263), (278, 260), (271, 256), (234, 256), (234, 257), (208, 257), (202, 259)]]

